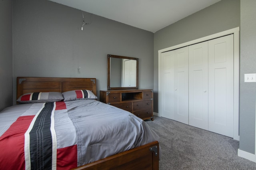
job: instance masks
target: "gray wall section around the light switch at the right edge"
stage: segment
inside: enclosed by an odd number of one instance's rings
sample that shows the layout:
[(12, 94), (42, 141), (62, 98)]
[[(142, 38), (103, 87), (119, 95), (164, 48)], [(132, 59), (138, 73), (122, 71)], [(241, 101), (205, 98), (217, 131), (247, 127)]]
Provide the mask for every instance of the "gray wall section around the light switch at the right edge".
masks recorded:
[(240, 28), (240, 150), (255, 152), (256, 83), (244, 74), (256, 73), (256, 1), (241, 0)]

